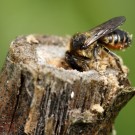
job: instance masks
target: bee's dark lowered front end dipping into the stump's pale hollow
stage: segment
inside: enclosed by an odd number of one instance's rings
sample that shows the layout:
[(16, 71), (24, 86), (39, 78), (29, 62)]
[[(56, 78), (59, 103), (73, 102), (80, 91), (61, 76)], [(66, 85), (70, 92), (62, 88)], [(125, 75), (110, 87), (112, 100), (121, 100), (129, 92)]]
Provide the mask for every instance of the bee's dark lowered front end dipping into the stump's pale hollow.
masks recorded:
[(67, 51), (65, 59), (73, 69), (81, 72), (89, 70), (89, 67), (86, 64), (87, 59), (85, 57), (76, 56), (71, 52)]

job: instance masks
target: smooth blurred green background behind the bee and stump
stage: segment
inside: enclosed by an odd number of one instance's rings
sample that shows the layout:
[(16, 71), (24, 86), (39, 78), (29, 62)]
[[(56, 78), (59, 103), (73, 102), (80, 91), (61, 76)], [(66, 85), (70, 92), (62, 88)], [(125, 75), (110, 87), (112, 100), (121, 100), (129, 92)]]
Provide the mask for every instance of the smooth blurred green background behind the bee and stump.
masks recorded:
[[(72, 35), (86, 31), (112, 17), (127, 18), (123, 29), (135, 35), (135, 0), (0, 0), (0, 67), (9, 44), (18, 35)], [(135, 86), (135, 46), (116, 52), (129, 67)], [(115, 121), (118, 135), (135, 135), (135, 98)]]

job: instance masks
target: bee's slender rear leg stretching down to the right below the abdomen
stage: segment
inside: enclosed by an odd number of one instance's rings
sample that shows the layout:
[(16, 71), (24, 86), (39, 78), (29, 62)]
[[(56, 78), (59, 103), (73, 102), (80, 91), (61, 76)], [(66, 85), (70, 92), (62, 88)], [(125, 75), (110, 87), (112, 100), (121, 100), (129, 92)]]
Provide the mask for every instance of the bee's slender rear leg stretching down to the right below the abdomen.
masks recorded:
[(115, 58), (115, 61), (116, 61), (116, 64), (117, 64), (118, 68), (123, 73), (123, 69), (122, 69), (122, 66), (121, 66), (119, 57), (115, 53), (113, 53), (112, 51), (110, 51), (108, 48), (106, 48), (104, 46), (102, 46), (102, 47), (103, 47), (104, 51), (106, 51), (108, 54), (110, 54), (112, 57)]

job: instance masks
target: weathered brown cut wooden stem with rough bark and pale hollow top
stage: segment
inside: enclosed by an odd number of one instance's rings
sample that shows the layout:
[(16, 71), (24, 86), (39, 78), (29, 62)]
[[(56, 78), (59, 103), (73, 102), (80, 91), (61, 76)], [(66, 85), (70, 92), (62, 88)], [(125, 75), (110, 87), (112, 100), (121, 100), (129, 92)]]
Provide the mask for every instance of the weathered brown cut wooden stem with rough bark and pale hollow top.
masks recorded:
[(0, 134), (109, 135), (134, 96), (127, 70), (72, 70), (68, 37), (29, 35), (12, 42), (0, 75)]

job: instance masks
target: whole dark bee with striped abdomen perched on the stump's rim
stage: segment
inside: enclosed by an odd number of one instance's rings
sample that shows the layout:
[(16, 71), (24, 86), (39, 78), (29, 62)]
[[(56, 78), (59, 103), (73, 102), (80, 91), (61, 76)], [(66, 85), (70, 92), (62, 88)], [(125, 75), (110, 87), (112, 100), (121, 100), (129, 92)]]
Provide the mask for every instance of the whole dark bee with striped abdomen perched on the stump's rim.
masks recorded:
[(75, 34), (70, 40), (70, 49), (66, 51), (67, 63), (73, 69), (87, 71), (91, 68), (92, 59), (97, 63), (103, 51), (114, 58), (117, 67), (123, 72), (119, 57), (110, 49), (122, 50), (130, 46), (132, 35), (117, 28), (125, 20), (124, 16), (115, 17), (87, 32)]

